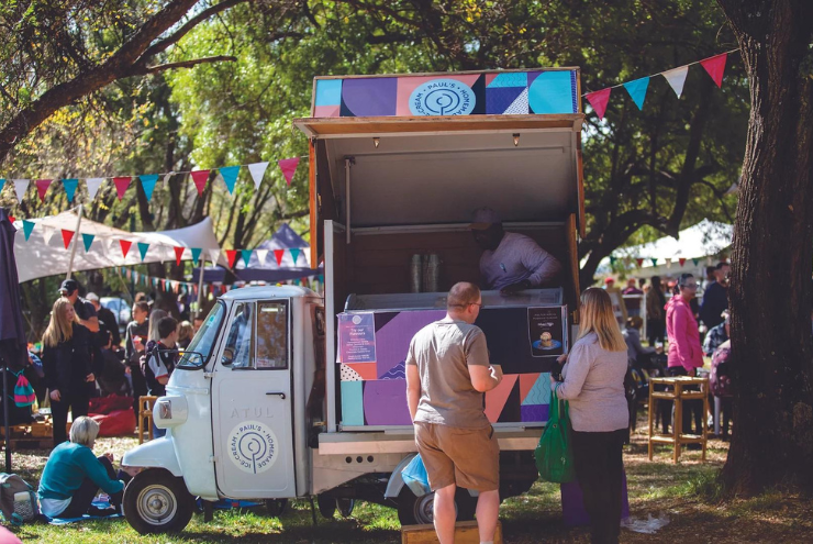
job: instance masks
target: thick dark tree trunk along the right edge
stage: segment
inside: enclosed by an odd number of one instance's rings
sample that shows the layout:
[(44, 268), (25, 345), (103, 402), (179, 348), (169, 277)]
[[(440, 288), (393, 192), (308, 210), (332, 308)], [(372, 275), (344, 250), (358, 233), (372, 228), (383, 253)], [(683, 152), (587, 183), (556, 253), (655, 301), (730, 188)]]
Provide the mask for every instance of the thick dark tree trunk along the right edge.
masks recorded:
[(732, 253), (731, 492), (813, 490), (813, 2), (719, 0), (751, 111)]

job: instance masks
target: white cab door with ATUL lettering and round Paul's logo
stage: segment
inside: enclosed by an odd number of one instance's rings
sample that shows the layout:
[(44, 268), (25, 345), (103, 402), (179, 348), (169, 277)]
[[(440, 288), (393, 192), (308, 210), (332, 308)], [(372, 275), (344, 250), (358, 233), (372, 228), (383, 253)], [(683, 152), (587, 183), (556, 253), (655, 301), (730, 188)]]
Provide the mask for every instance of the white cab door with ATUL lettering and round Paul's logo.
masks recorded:
[(235, 301), (212, 380), (219, 490), (296, 497), (288, 300)]

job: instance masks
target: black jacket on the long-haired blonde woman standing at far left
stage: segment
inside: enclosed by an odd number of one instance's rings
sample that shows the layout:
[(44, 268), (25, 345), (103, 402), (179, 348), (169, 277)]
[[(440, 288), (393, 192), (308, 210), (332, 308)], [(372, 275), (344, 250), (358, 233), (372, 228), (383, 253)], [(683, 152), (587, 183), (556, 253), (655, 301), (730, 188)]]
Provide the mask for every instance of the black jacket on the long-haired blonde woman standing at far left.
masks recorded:
[(43, 346), (43, 369), (49, 390), (57, 389), (66, 395), (88, 395), (86, 378), (92, 373), (90, 366), (90, 333), (74, 323), (74, 336), (55, 347)]

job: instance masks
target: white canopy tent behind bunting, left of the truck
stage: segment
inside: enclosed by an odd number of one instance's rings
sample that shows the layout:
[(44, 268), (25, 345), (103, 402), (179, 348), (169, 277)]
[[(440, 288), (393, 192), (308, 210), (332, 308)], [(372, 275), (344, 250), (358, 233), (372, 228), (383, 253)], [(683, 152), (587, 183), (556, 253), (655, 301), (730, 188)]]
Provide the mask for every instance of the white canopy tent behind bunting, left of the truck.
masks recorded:
[[(94, 270), (116, 266), (133, 266), (142, 263), (163, 263), (176, 260), (175, 247), (196, 247), (202, 249), (200, 258), (225, 265), (220, 244), (214, 236), (212, 220), (204, 218), (198, 224), (163, 232), (127, 232), (107, 226), (82, 218), (78, 222), (78, 209), (58, 215), (29, 220), (35, 223), (29, 240), (25, 240), (23, 222), (18, 220), (14, 238), (14, 256), (20, 282), (46, 276), (66, 275), (73, 270)], [(77, 225), (79, 231), (77, 231)], [(62, 231), (74, 232), (70, 245), (65, 248)], [(81, 234), (92, 234), (89, 251), (85, 249)], [(132, 242), (127, 256), (123, 256), (120, 241)], [(144, 259), (137, 243), (149, 244)], [(73, 267), (70, 265), (74, 253)], [(192, 252), (186, 249), (182, 260), (191, 260)]]

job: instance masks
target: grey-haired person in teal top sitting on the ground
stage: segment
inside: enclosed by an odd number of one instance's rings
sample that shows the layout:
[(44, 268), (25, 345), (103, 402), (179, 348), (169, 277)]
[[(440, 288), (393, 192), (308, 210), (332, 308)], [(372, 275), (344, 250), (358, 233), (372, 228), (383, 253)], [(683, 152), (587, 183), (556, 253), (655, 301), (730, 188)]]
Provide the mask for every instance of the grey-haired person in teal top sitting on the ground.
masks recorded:
[[(48, 457), (40, 480), (40, 507), (48, 518), (81, 518), (121, 512), (124, 482), (116, 479), (113, 455), (93, 455), (99, 423), (81, 415), (70, 428), (70, 442), (57, 445)], [(113, 509), (100, 510), (91, 503), (98, 490), (110, 496)]]

